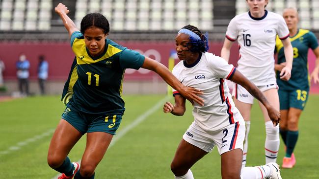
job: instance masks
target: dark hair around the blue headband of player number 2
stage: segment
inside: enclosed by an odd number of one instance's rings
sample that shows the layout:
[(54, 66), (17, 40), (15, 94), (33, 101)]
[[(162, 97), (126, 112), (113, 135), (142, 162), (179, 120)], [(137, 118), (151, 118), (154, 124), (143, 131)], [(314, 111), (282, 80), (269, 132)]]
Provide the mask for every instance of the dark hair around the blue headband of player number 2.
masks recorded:
[(189, 50), (192, 52), (207, 52), (207, 50), (209, 49), (208, 46), (208, 33), (206, 33), (205, 35), (202, 34), (202, 32), (194, 25), (186, 25), (183, 28), (188, 29), (192, 32), (194, 32), (195, 34), (197, 34), (201, 40), (197, 40), (193, 37), (190, 37), (190, 42), (187, 44), (187, 46), (189, 45)]

